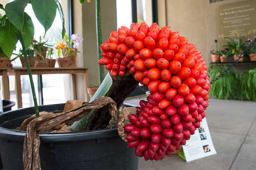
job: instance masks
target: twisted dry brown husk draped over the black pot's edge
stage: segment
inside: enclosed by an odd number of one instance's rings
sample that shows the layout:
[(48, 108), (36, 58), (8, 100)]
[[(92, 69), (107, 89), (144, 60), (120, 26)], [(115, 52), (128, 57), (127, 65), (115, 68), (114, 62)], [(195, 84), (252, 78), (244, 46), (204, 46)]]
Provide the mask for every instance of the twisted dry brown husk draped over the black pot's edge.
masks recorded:
[[(48, 114), (33, 119), (27, 127), (24, 139), (23, 162), (24, 170), (40, 170), (39, 132), (48, 132), (51, 128), (63, 123), (72, 123), (82, 119), (92, 109), (99, 109), (109, 104), (109, 113), (118, 121), (118, 111), (116, 103), (110, 97), (96, 98), (93, 102), (83, 104), (71, 111), (63, 113)], [(64, 126), (65, 127), (65, 126)]]

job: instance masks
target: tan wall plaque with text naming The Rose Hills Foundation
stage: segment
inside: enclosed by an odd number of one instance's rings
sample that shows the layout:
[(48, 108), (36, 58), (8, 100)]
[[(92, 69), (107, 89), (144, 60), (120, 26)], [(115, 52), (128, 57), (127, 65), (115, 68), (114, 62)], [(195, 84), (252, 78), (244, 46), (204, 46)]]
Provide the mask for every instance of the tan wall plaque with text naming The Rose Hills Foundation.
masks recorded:
[(256, 36), (256, 0), (243, 1), (217, 7), (218, 40), (226, 44), (225, 36), (243, 40)]

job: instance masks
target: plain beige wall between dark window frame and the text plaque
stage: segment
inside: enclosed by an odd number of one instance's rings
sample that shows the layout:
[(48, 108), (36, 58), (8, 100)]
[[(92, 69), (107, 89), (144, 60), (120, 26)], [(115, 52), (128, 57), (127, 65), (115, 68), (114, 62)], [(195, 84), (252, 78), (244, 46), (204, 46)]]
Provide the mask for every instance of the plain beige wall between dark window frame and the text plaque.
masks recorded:
[(201, 51), (207, 65), (211, 62), (210, 50), (217, 39), (216, 7), (241, 0), (210, 3), (209, 0), (158, 0), (159, 27), (169, 26), (172, 31), (188, 38)]

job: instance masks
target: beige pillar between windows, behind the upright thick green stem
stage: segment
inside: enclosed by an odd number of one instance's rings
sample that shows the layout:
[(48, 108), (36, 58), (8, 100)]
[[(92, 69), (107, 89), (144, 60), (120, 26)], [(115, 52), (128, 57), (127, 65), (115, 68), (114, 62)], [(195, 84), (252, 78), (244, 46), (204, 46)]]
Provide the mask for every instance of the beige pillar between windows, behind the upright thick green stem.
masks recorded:
[[(96, 39), (96, 13), (95, 0), (90, 3), (73, 1), (74, 8), (74, 33), (81, 35), (84, 40), (79, 47), (81, 53), (77, 56), (77, 66), (90, 67), (88, 71), (88, 85), (98, 86), (98, 50)], [(102, 42), (105, 42), (110, 36), (110, 32), (117, 29), (116, 0), (100, 1), (101, 24), (102, 24)], [(107, 71), (105, 71), (107, 73)], [(77, 75), (77, 99), (84, 100), (83, 76)]]

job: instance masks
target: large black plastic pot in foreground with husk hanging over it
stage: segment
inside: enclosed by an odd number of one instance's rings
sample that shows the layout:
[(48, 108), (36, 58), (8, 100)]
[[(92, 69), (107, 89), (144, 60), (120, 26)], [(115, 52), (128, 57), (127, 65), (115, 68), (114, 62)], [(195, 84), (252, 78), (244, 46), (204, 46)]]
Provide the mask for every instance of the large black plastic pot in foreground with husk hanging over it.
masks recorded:
[[(61, 112), (65, 104), (39, 106)], [(11, 130), (34, 113), (34, 107), (0, 114), (0, 152), (4, 170), (23, 169), (25, 132)], [(119, 137), (117, 127), (70, 133), (40, 133), (42, 170), (137, 170), (139, 158)]]

